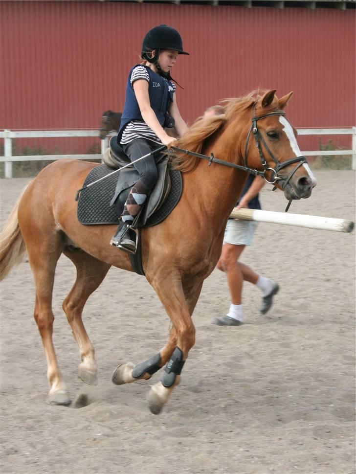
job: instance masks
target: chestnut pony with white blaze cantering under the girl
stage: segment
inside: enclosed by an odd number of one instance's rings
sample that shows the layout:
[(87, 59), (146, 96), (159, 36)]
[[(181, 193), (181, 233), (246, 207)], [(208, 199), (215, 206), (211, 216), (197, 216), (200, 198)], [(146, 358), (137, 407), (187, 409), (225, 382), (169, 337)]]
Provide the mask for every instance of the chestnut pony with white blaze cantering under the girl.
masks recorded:
[[(216, 158), (238, 165), (243, 165), (245, 156), (247, 166), (260, 171), (264, 170), (261, 160), (266, 159), (266, 178), (275, 180), (271, 168), (277, 166), (279, 181), (275, 184), (284, 188), (288, 200), (308, 198), (316, 181), (303, 157), (292, 159), (300, 152), (295, 131), (284, 118), (290, 96), (278, 99), (271, 90), (263, 96), (251, 93), (229, 99), (224, 114), (198, 119), (179, 140), (179, 147), (205, 155), (214, 151)], [(249, 133), (254, 117), (259, 147)], [(292, 163), (283, 167), (286, 161)], [(241, 169), (214, 162), (208, 166), (205, 160), (186, 154), (176, 156), (174, 162), (182, 172), (182, 197), (162, 223), (142, 230), (146, 278), (170, 317), (172, 329), (158, 354), (136, 366), (130, 362), (119, 365), (112, 376), (115, 384), (149, 379), (168, 362), (161, 381), (148, 395), (153, 413), (167, 403), (195, 343), (192, 313), (204, 279), (218, 262), (227, 219), (247, 176)], [(280, 163), (282, 168), (278, 168)], [(49, 401), (59, 405), (70, 402), (52, 342), (52, 289), (59, 256), (63, 252), (77, 269), (63, 309), (80, 350), (79, 377), (88, 384), (96, 383), (97, 367), (82, 321), (84, 305), (111, 265), (133, 271), (128, 254), (109, 245), (116, 226), (78, 222), (75, 194), (94, 166), (97, 164), (64, 159), (48, 165), (22, 193), (1, 236), (1, 278), (27, 250), (36, 285), (34, 316), (47, 359)]]

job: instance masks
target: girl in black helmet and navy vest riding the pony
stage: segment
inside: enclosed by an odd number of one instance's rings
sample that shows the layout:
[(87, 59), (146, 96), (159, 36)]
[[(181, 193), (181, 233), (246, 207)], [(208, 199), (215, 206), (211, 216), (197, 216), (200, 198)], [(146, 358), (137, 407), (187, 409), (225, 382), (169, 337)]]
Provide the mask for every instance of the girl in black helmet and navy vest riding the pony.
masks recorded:
[(178, 135), (187, 130), (178, 111), (176, 85), (170, 74), (178, 54), (189, 54), (183, 50), (178, 31), (165, 24), (152, 28), (143, 39), (141, 58), (144, 63), (131, 68), (127, 80), (117, 142), (134, 162), (140, 179), (129, 193), (120, 225), (110, 242), (123, 250), (134, 251), (136, 248), (130, 224), (157, 180), (154, 155), (137, 162), (135, 160), (150, 154), (157, 144), (170, 147), (177, 141), (164, 130), (164, 126), (173, 124), (172, 117)]

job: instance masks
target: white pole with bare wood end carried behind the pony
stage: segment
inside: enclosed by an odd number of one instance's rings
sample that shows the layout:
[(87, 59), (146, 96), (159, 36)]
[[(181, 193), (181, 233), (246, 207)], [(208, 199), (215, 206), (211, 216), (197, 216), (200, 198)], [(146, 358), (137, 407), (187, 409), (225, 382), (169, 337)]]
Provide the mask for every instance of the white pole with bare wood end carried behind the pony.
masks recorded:
[(262, 211), (259, 209), (233, 209), (230, 217), (246, 221), (269, 222), (285, 226), (308, 227), (310, 229), (334, 230), (335, 232), (351, 232), (352, 221), (331, 217), (308, 216), (304, 214), (287, 214), (285, 212)]

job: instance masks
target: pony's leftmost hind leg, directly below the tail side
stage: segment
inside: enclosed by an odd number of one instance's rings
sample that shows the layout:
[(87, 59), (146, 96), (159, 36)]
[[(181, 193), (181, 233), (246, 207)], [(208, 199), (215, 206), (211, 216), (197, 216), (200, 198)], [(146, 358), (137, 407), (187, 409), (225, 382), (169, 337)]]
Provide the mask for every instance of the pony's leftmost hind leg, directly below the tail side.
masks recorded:
[(47, 360), (47, 378), (50, 384), (49, 402), (56, 405), (70, 403), (62, 374), (54, 351), (52, 333), (54, 316), (52, 312), (52, 292), (54, 273), (58, 258), (62, 253), (62, 242), (58, 234), (42, 236), (42, 242), (31, 244), (26, 241), (28, 259), (36, 285), (34, 317), (41, 334)]

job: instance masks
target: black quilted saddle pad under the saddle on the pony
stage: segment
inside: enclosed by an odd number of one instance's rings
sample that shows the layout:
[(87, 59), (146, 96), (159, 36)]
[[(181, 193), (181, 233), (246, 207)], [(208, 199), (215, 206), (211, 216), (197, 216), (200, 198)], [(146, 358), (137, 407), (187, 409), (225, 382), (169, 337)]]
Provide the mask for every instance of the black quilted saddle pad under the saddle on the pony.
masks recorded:
[[(112, 168), (109, 168), (105, 164), (95, 166), (95, 168), (89, 172), (83, 187), (112, 173), (112, 171)], [(171, 177), (170, 194), (155, 214), (148, 219), (145, 227), (156, 226), (156, 224), (162, 222), (178, 204), (182, 193), (181, 174), (180, 171), (172, 169), (169, 169), (169, 174)], [(118, 176), (119, 173), (117, 172), (105, 180), (81, 191), (77, 211), (78, 220), (81, 224), (86, 226), (118, 224), (119, 216), (116, 214), (114, 206), (110, 207), (109, 205), (115, 193)]]

